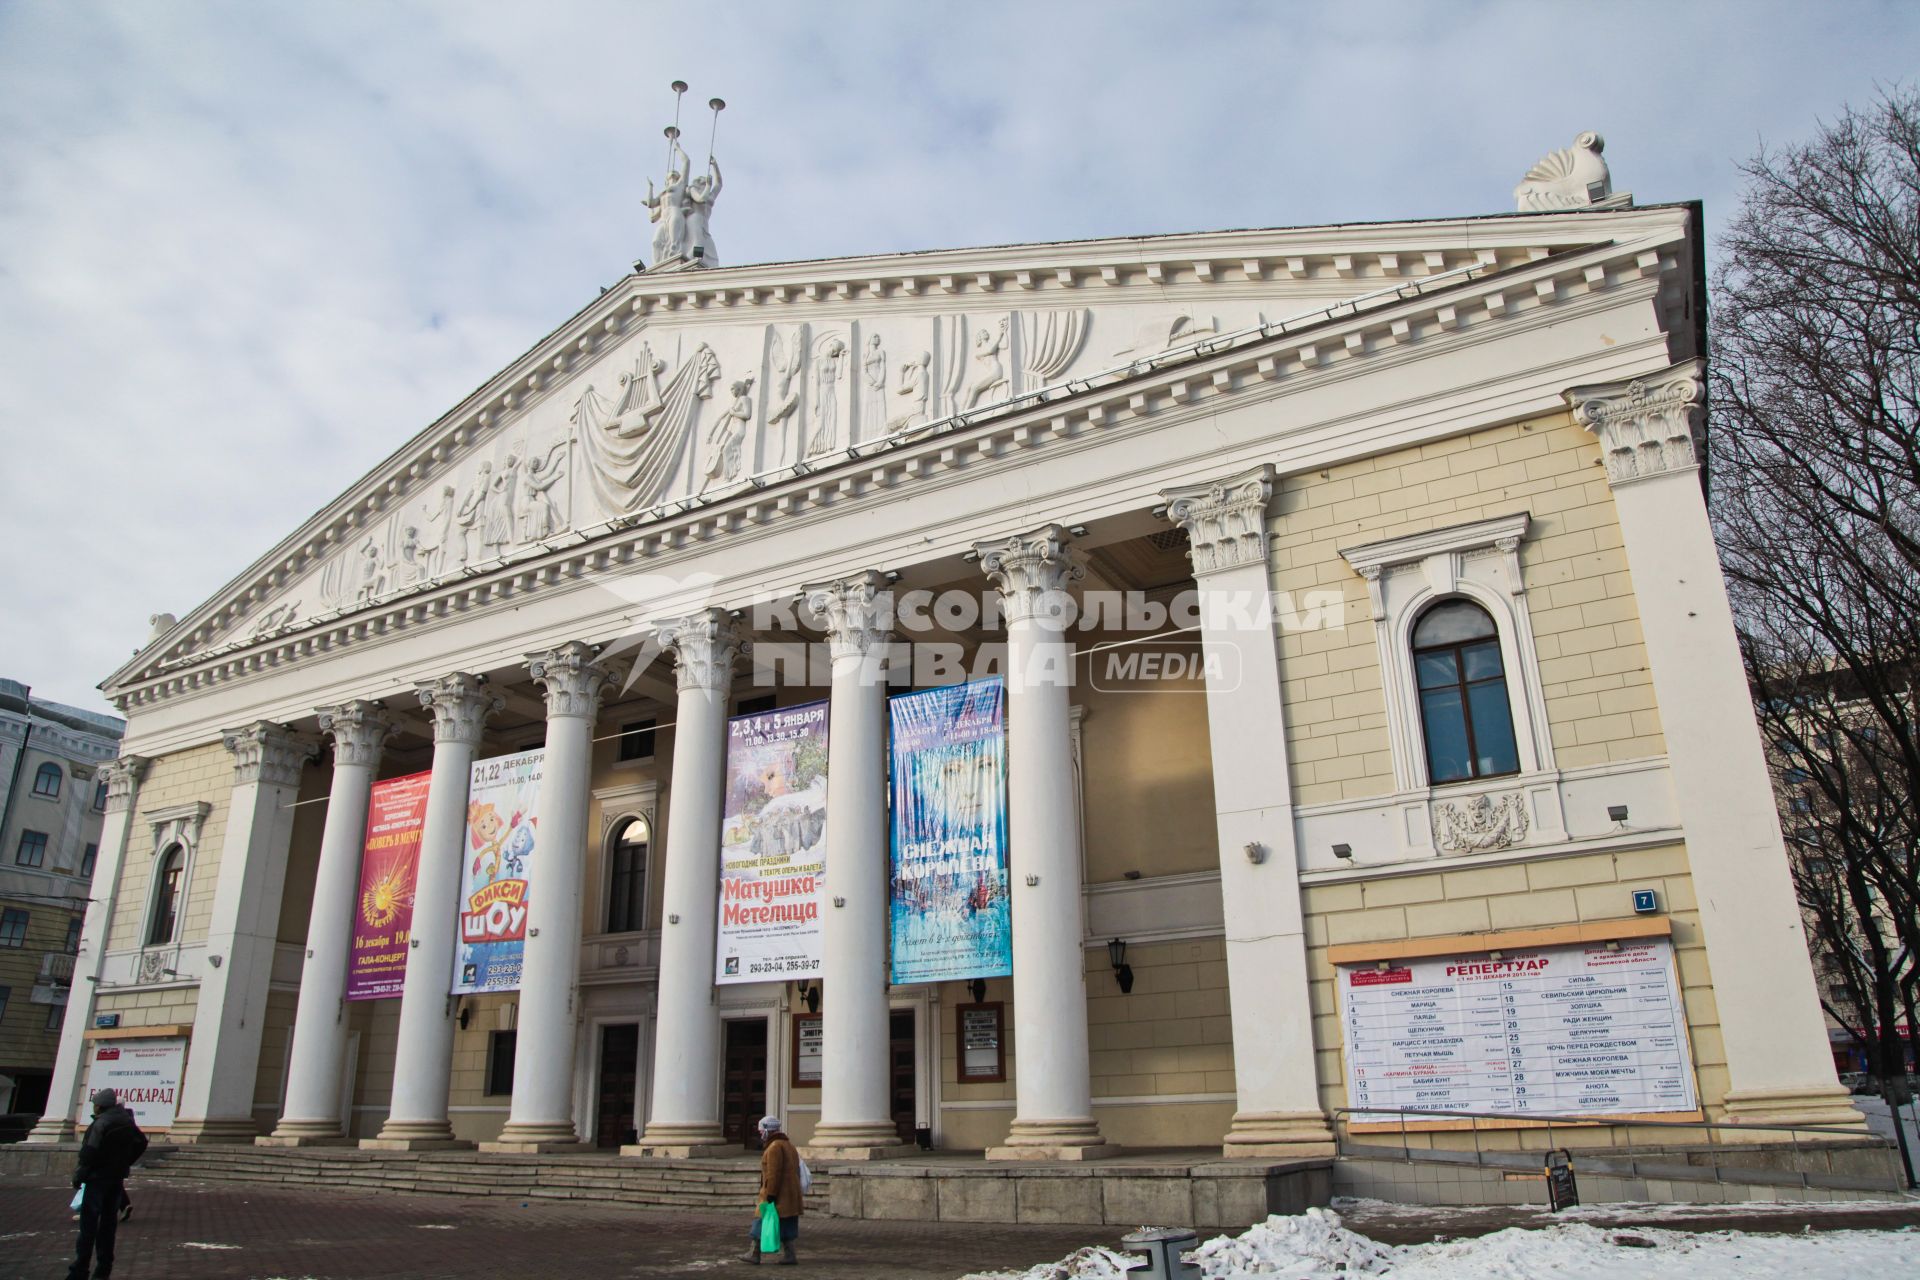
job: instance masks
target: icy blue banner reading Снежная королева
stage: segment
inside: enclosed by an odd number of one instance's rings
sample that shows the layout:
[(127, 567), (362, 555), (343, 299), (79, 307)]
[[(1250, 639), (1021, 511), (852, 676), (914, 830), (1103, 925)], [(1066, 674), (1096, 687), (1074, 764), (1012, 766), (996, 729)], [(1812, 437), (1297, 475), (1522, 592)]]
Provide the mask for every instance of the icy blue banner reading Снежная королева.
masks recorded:
[(1006, 685), (889, 699), (893, 981), (1014, 971), (1006, 879)]

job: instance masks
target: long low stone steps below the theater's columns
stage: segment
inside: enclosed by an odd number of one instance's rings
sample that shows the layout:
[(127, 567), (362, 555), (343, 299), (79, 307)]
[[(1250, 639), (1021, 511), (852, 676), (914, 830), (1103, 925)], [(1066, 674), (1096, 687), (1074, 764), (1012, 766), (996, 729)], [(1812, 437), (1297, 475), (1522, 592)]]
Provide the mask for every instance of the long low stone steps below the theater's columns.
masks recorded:
[[(595, 1199), (636, 1209), (751, 1215), (758, 1157), (647, 1161), (607, 1155), (480, 1155), (478, 1151), (361, 1151), (357, 1148), (177, 1146), (148, 1151), (144, 1178), (313, 1186), (411, 1196)], [(814, 1176), (810, 1213), (828, 1211), (828, 1178)]]

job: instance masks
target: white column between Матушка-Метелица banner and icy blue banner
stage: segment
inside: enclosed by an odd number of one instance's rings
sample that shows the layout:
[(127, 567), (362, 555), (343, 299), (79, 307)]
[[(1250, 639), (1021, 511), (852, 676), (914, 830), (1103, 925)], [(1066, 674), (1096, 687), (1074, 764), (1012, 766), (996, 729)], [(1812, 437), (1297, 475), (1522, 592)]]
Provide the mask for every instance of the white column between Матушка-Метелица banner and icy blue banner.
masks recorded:
[(828, 831), (820, 983), (820, 1123), (808, 1151), (828, 1159), (904, 1155), (893, 1126), (887, 1011), (887, 652), (893, 591), (864, 572), (806, 589), (828, 629)]

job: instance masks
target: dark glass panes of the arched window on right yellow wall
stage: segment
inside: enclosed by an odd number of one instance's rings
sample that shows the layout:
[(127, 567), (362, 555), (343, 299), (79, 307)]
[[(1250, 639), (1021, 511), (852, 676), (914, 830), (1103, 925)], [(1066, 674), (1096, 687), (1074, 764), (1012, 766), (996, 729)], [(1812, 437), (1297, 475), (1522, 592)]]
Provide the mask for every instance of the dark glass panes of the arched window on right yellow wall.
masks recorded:
[(1413, 676), (1430, 783), (1519, 773), (1500, 631), (1473, 601), (1448, 599), (1413, 624)]

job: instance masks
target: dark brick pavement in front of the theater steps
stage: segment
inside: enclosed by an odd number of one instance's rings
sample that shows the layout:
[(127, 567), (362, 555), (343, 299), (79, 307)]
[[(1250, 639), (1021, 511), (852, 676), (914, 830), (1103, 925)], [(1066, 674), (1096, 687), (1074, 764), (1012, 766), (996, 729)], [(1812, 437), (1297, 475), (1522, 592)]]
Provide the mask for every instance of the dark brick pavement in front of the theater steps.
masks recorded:
[[(622, 1209), (582, 1201), (380, 1196), (228, 1182), (129, 1184), (115, 1280), (534, 1280), (580, 1276), (768, 1274), (733, 1261), (747, 1222), (733, 1215)], [(79, 1226), (54, 1178), (0, 1182), (0, 1280), (65, 1274)], [(803, 1219), (801, 1267), (781, 1276), (954, 1280), (1025, 1268), (1112, 1226), (970, 1226)], [(223, 1245), (223, 1247), (205, 1247)]]

